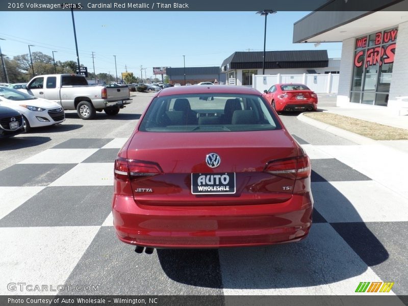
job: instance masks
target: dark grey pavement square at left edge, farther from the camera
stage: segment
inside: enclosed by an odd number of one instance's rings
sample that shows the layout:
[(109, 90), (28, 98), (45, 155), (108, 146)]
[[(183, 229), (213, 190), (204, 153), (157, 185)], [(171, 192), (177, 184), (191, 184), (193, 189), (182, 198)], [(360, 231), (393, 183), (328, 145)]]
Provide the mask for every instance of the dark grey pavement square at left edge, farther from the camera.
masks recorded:
[(48, 186), (76, 164), (15, 164), (0, 171), (0, 186)]

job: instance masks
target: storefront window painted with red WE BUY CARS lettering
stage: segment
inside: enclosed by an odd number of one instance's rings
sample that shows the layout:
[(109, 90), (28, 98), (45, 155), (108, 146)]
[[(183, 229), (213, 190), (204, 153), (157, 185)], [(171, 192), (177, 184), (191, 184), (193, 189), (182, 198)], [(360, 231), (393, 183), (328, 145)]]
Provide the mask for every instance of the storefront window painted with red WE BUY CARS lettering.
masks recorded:
[(356, 39), (350, 102), (387, 106), (398, 29)]

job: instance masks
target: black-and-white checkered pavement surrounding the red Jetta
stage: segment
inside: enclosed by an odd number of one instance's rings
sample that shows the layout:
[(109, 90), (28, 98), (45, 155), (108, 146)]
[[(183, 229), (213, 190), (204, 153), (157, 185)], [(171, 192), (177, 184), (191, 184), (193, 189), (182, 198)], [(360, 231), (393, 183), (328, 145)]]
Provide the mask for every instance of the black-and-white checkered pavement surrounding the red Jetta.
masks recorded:
[(104, 295), (353, 295), (360, 282), (395, 282), (388, 294), (408, 294), (406, 187), (387, 165), (374, 171), (373, 147), (294, 136), (312, 159), (314, 224), (307, 239), (268, 247), (148, 255), (119, 242), (110, 210), (124, 138), (70, 139), (0, 171), (0, 294), (54, 294), (11, 282)]

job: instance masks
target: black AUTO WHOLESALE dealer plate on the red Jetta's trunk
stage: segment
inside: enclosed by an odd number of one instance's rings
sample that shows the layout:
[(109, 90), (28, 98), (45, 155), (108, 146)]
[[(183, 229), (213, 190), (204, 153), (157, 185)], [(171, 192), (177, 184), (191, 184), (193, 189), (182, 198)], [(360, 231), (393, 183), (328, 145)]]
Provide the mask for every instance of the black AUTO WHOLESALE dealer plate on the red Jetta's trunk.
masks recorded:
[(233, 194), (235, 173), (191, 173), (192, 194)]

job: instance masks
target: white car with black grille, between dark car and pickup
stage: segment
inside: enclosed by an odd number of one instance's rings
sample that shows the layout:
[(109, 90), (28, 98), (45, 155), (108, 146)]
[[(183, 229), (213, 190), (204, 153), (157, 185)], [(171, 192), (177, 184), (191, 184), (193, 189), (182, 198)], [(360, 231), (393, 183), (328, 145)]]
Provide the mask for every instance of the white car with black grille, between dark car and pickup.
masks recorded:
[(65, 120), (64, 109), (58, 103), (5, 86), (0, 86), (0, 106), (18, 111), (23, 116), (26, 131), (31, 127), (58, 124)]

